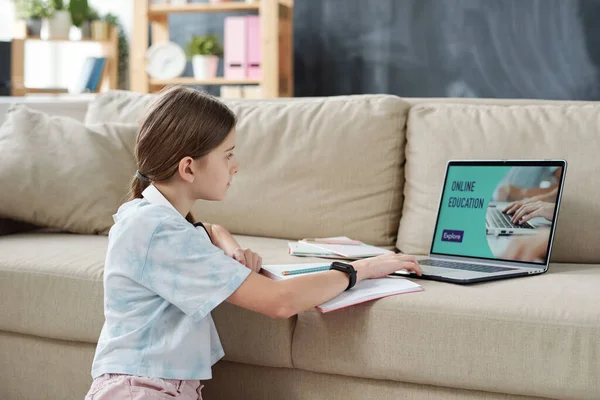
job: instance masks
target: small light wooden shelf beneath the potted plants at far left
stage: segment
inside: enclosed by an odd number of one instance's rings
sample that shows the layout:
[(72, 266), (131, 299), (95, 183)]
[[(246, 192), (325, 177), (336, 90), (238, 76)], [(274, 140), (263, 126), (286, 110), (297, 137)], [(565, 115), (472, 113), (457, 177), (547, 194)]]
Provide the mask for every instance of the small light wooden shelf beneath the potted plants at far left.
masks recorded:
[(97, 41), (82, 38), (70, 40), (69, 38), (41, 39), (39, 36), (29, 36), (25, 21), (16, 21), (15, 32), (11, 42), (11, 95), (25, 96), (28, 94), (64, 94), (65, 88), (31, 88), (25, 86), (25, 44), (31, 41), (62, 42), (62, 43), (99, 43), (102, 48), (102, 57), (106, 57), (106, 65), (102, 75), (100, 90), (117, 89), (119, 68), (119, 36), (118, 28), (112, 27), (108, 40)]

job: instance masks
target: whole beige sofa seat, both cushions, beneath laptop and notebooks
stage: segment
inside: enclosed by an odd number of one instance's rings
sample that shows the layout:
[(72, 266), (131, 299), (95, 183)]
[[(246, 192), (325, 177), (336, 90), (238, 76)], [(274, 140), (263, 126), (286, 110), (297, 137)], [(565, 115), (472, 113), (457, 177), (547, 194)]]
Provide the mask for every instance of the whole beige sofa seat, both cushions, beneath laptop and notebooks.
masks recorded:
[[(265, 263), (317, 261), (289, 256), (285, 240), (236, 238)], [(106, 246), (105, 236), (1, 237), (0, 330), (96, 343)], [(600, 398), (599, 266), (553, 264), (541, 276), (470, 286), (417, 282), (423, 292), (327, 314), (309, 310), (288, 320), (224, 303), (213, 317), (225, 360), (486, 392)]]

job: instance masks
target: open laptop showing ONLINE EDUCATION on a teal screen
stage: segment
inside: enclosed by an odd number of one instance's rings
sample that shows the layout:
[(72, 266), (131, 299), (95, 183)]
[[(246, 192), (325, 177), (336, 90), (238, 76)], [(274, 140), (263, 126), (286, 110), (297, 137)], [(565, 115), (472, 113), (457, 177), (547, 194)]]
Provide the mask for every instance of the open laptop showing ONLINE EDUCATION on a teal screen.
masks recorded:
[[(449, 161), (421, 278), (466, 284), (546, 272), (566, 168), (565, 160)], [(543, 197), (513, 223), (511, 205), (532, 196)]]

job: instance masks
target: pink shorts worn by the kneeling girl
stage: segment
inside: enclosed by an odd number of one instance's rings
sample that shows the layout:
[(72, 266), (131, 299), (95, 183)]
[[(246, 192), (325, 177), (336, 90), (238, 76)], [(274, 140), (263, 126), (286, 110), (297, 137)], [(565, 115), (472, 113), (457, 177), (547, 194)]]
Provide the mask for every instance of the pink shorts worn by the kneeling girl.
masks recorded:
[(104, 374), (92, 382), (85, 400), (202, 400), (200, 381)]

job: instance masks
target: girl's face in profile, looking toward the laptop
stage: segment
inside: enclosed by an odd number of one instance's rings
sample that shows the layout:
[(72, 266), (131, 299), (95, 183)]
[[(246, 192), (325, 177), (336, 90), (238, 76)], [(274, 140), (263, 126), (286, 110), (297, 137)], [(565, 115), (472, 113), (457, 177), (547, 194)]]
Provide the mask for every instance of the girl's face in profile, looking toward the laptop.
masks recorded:
[(197, 165), (194, 180), (194, 196), (202, 200), (223, 200), (239, 164), (233, 150), (235, 128), (217, 148), (206, 156), (195, 160)]

